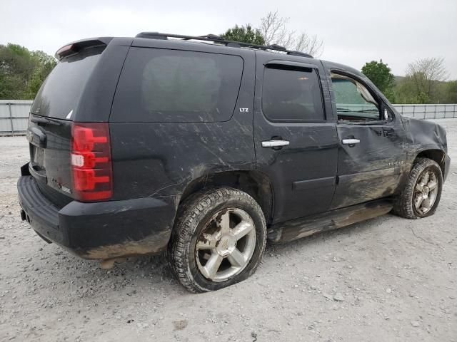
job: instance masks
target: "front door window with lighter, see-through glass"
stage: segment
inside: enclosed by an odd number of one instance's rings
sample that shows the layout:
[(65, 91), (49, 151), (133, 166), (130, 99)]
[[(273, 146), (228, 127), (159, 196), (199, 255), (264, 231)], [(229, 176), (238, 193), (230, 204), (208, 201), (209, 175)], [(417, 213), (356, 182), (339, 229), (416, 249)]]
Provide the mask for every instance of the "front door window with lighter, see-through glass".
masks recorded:
[(338, 120), (381, 120), (380, 105), (370, 91), (355, 79), (331, 73)]

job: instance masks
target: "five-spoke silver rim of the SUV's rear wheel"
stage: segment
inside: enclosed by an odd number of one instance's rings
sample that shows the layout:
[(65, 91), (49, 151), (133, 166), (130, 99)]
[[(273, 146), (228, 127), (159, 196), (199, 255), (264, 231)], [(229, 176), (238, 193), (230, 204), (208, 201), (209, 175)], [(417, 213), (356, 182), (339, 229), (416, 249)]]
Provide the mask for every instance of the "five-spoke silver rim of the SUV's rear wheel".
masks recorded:
[(200, 273), (211, 281), (233, 278), (249, 264), (256, 249), (256, 227), (242, 209), (217, 212), (196, 241), (195, 259)]

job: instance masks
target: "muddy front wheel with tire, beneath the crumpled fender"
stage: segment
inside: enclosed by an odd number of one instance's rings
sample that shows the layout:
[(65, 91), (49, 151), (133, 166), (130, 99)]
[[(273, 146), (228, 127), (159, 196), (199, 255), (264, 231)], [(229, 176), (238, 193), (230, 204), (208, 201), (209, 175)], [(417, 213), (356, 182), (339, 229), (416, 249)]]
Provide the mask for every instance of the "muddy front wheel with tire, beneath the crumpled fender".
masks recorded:
[(434, 160), (418, 158), (401, 194), (395, 199), (393, 212), (406, 219), (431, 216), (440, 202), (442, 188), (441, 167)]

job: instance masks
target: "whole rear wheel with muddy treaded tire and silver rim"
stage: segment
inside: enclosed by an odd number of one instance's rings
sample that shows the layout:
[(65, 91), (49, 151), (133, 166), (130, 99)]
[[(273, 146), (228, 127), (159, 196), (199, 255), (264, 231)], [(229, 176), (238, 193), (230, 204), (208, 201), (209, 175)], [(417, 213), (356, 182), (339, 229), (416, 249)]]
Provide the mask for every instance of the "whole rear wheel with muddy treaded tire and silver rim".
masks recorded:
[(212, 188), (182, 204), (169, 262), (189, 291), (215, 291), (251, 276), (265, 245), (266, 222), (256, 200), (241, 190)]

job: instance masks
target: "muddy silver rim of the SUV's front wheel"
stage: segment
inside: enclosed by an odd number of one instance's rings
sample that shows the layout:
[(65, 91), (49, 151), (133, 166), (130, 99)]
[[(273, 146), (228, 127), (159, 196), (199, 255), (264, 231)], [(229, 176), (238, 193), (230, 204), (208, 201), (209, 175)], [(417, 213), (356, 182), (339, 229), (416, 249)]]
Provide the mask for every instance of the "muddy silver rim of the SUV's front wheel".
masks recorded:
[(438, 177), (435, 172), (426, 170), (414, 187), (414, 207), (419, 214), (426, 214), (435, 204), (438, 195)]

